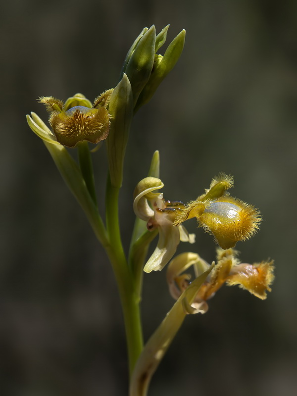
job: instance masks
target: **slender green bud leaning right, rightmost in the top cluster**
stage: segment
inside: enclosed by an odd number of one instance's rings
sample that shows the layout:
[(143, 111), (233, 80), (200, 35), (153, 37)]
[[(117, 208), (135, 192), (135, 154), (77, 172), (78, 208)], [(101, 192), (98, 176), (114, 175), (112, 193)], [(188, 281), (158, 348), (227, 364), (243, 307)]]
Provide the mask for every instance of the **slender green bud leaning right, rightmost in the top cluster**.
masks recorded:
[(150, 74), (148, 83), (142, 90), (135, 106), (137, 111), (141, 106), (148, 103), (160, 83), (167, 74), (173, 69), (184, 48), (186, 31), (182, 30), (175, 39), (169, 44), (162, 58), (155, 57), (155, 63)]

